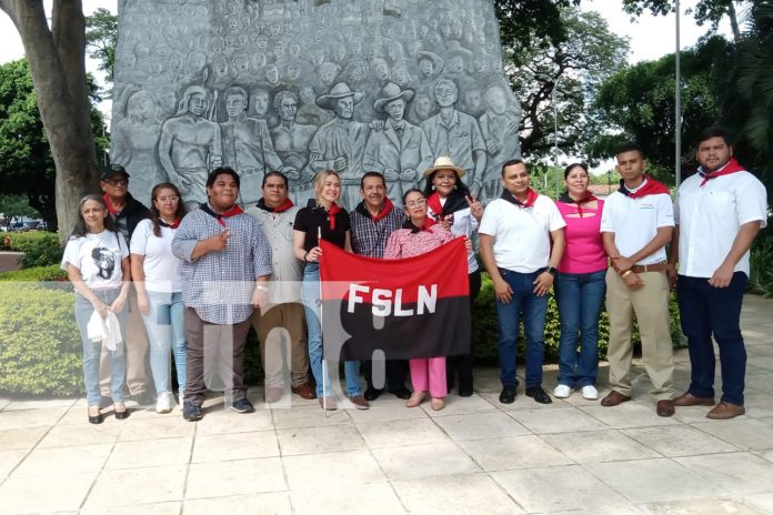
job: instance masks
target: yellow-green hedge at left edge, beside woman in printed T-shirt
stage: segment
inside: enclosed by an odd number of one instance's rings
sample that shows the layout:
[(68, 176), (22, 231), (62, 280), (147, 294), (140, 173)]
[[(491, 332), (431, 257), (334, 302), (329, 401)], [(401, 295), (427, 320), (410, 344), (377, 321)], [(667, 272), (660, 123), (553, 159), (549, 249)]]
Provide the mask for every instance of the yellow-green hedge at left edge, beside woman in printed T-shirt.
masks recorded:
[(82, 345), (69, 285), (0, 282), (0, 391), (79, 395)]

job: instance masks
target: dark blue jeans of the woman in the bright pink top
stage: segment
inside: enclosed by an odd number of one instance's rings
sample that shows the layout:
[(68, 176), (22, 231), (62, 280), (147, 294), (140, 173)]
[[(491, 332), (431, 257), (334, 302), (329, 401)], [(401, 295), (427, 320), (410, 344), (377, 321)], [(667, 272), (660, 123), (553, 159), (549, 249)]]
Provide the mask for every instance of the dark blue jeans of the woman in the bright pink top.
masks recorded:
[[(599, 375), (599, 316), (606, 294), (606, 270), (559, 274), (555, 283), (561, 337), (559, 384), (595, 384)], [(578, 343), (580, 350), (578, 352)]]

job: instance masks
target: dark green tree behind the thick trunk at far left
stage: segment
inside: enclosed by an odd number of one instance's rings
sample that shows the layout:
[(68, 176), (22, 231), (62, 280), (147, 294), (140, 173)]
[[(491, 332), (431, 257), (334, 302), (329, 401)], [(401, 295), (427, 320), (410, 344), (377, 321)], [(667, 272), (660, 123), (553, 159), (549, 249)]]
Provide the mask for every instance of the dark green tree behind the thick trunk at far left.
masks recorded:
[[(90, 88), (96, 91), (93, 80)], [(92, 97), (99, 100), (96, 94)], [(94, 130), (102, 132), (102, 114), (91, 109)], [(98, 139), (99, 151), (108, 142)], [(43, 130), (26, 59), (0, 65), (0, 190), (26, 195), (29, 205), (39, 212), (50, 228), (57, 228), (56, 166), (49, 140)]]

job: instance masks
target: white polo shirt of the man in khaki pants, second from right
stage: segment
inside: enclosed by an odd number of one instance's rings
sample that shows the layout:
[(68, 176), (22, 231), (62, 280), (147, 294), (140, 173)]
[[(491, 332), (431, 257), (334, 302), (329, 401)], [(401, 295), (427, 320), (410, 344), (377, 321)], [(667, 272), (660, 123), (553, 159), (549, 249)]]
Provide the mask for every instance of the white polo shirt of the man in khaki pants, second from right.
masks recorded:
[[(601, 214), (601, 232), (614, 233), (614, 245), (624, 256), (642, 250), (655, 238), (659, 228), (673, 226), (674, 204), (667, 193), (632, 199), (615, 191), (604, 202)], [(662, 263), (665, 259), (663, 245), (636, 264)]]

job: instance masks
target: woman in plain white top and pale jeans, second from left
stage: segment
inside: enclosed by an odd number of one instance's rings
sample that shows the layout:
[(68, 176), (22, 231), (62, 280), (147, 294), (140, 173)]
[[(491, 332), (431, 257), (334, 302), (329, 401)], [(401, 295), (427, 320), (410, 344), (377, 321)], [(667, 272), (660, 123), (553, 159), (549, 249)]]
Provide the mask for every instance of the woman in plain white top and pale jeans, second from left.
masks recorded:
[[(172, 254), (172, 239), (185, 204), (174, 184), (162, 182), (151, 192), (150, 219), (142, 220), (131, 236), (131, 274), (137, 302), (150, 343), (150, 370), (155, 383), (155, 411), (172, 411), (169, 384), (170, 349), (174, 354), (180, 398), (185, 388), (185, 329), (182, 304), (182, 261)], [(182, 405), (182, 403), (180, 403)]]

